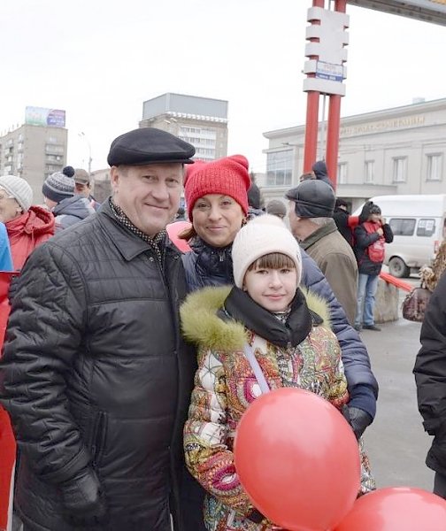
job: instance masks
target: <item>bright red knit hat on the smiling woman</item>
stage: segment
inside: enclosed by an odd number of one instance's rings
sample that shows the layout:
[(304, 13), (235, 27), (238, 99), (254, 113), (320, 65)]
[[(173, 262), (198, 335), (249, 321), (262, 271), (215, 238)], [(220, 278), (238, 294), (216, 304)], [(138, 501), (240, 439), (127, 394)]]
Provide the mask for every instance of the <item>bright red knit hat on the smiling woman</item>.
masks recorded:
[(230, 196), (248, 213), (248, 190), (250, 189), (249, 163), (242, 155), (219, 158), (211, 162), (196, 160), (186, 170), (184, 196), (188, 206), (188, 219), (196, 200), (207, 194)]

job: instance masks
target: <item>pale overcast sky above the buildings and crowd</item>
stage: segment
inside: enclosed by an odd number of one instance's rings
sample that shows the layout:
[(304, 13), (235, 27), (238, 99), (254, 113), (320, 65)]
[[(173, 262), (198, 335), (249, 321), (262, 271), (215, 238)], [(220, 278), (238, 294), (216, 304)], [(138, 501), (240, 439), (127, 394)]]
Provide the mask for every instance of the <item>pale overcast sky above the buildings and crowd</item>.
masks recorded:
[[(0, 17), (0, 133), (27, 105), (64, 109), (68, 164), (106, 167), (110, 142), (165, 92), (229, 102), (228, 154), (265, 171), (265, 131), (304, 124), (311, 0), (14, 0)], [(327, 3), (326, 3), (327, 4)], [(446, 27), (348, 5), (342, 116), (446, 97)], [(83, 132), (88, 142), (80, 136)]]

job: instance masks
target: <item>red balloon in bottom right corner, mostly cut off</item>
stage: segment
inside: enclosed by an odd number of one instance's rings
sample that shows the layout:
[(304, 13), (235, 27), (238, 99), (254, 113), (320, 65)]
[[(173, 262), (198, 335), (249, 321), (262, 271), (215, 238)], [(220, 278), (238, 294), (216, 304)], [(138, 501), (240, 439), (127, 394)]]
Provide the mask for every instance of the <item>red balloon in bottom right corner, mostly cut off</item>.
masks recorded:
[(446, 501), (427, 490), (393, 487), (360, 497), (335, 531), (421, 529), (446, 529)]

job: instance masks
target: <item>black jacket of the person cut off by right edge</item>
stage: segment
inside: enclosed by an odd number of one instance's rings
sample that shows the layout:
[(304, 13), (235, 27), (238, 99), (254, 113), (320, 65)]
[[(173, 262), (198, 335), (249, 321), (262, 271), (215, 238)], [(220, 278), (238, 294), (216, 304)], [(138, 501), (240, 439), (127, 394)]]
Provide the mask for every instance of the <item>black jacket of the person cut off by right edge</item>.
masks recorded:
[(434, 442), (426, 464), (446, 476), (446, 274), (431, 295), (413, 373), (423, 426)]

